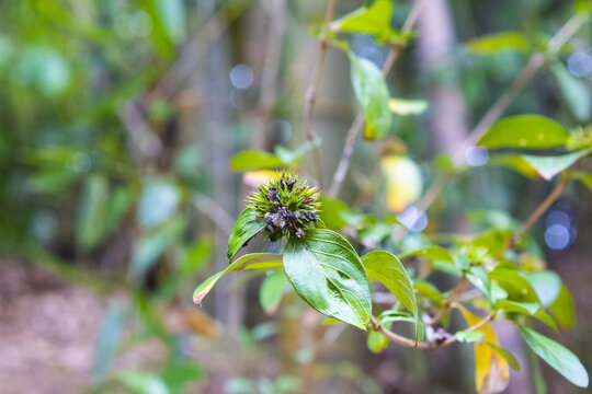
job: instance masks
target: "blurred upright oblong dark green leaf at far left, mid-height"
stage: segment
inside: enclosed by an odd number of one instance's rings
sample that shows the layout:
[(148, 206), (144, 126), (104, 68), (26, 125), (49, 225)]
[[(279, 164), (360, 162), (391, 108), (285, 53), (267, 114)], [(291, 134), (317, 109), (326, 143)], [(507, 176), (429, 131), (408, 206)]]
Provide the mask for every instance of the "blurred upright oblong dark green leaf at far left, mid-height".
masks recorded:
[(109, 182), (92, 174), (84, 184), (77, 220), (77, 244), (84, 251), (93, 248), (105, 234), (109, 212)]

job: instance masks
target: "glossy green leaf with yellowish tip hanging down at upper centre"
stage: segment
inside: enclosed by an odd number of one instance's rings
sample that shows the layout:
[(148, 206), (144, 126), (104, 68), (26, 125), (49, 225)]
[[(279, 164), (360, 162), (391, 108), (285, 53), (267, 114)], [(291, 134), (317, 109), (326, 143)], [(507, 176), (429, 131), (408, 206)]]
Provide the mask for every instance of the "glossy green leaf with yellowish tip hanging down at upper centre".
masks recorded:
[(372, 141), (386, 136), (392, 119), (388, 109), (388, 88), (383, 72), (372, 61), (349, 51), (352, 85), (366, 126), (364, 139)]

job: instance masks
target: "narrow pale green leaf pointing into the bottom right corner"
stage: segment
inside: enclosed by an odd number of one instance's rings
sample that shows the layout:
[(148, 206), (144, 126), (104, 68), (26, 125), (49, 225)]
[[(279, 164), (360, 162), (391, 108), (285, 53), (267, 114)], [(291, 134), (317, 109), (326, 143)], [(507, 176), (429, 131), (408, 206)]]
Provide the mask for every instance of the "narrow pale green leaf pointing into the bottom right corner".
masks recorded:
[(569, 349), (525, 326), (519, 326), (531, 349), (567, 380), (580, 387), (588, 387), (588, 372)]

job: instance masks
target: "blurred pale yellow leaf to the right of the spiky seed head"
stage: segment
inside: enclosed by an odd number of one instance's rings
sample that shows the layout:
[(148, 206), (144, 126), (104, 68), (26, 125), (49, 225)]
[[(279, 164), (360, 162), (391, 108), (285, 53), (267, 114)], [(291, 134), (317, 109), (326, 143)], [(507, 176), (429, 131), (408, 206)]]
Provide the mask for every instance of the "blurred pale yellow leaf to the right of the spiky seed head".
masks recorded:
[(386, 177), (387, 207), (401, 212), (421, 196), (421, 171), (406, 157), (387, 155), (380, 164)]

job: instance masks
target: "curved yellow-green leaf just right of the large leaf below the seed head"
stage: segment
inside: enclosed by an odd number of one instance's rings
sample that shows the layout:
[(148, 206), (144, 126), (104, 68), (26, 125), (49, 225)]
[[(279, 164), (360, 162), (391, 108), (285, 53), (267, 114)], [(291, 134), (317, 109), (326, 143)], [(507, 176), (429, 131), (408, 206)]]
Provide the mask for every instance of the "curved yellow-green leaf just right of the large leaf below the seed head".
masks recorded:
[(415, 340), (419, 337), (420, 316), (413, 283), (397, 256), (386, 251), (373, 251), (362, 256), (368, 278), (378, 280), (413, 313), (415, 318)]

